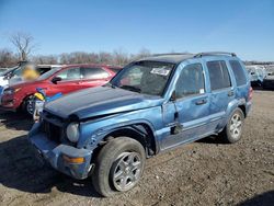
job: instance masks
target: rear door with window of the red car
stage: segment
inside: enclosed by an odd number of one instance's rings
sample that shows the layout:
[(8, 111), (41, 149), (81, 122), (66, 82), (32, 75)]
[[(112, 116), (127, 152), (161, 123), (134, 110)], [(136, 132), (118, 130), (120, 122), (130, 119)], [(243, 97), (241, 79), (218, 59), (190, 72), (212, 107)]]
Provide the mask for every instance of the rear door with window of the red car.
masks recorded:
[(110, 72), (100, 67), (85, 67), (82, 69), (81, 88), (94, 88), (105, 84), (112, 77)]

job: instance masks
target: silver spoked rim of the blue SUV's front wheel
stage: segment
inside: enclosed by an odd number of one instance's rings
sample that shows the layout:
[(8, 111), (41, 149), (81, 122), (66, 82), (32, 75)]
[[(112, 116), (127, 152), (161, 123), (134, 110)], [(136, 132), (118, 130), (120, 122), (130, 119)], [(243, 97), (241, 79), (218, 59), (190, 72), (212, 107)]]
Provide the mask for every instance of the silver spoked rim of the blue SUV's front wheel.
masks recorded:
[(136, 185), (141, 173), (141, 158), (137, 152), (123, 152), (113, 171), (113, 184), (117, 191), (128, 191)]

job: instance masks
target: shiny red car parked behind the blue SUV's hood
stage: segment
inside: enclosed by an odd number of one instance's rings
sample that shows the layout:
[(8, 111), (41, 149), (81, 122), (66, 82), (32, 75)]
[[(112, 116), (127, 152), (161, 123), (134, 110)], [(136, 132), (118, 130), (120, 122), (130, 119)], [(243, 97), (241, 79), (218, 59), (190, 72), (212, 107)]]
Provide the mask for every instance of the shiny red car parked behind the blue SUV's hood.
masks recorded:
[(42, 75), (36, 81), (22, 82), (5, 89), (2, 96), (2, 108), (18, 111), (22, 108), (33, 113), (33, 94), (42, 88), (48, 96), (58, 92), (70, 93), (84, 88), (103, 85), (121, 69), (104, 65), (70, 65), (54, 68)]

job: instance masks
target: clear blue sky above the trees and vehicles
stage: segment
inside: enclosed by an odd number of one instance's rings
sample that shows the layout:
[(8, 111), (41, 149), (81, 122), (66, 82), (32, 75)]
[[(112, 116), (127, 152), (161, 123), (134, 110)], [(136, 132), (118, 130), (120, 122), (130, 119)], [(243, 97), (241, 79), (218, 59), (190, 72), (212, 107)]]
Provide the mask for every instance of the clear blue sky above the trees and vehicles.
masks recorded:
[(35, 54), (235, 52), (274, 60), (273, 0), (0, 0), (0, 48), (33, 35)]

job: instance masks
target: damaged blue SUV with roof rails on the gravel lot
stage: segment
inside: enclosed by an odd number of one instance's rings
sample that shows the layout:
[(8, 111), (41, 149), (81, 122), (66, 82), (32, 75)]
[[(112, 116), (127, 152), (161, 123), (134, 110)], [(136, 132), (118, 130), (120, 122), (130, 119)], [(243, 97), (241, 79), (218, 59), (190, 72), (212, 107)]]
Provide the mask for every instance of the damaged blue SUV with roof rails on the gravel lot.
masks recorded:
[(28, 139), (53, 168), (91, 176), (101, 195), (112, 196), (138, 183), (146, 158), (210, 135), (238, 141), (251, 98), (235, 54), (155, 55), (103, 87), (47, 103)]

